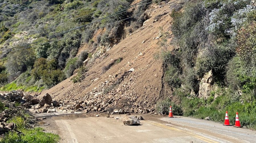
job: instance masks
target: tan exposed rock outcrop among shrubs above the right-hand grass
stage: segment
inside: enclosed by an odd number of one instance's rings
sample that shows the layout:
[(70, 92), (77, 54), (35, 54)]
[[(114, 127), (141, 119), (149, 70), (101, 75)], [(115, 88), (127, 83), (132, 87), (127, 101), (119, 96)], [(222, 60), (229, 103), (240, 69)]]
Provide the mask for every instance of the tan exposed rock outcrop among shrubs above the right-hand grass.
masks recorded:
[(199, 97), (207, 99), (210, 97), (210, 93), (213, 90), (214, 80), (212, 78), (212, 70), (210, 70), (201, 80), (199, 87)]

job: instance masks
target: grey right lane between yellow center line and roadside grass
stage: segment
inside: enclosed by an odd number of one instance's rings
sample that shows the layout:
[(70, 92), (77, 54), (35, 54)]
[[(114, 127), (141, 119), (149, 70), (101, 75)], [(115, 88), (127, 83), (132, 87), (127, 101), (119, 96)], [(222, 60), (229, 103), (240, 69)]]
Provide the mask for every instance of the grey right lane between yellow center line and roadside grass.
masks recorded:
[(198, 120), (194, 118), (161, 118), (161, 120), (169, 122), (169, 126), (180, 126), (184, 131), (193, 131), (196, 134), (207, 136), (208, 138), (222, 138), (226, 142), (256, 142), (256, 131), (249, 129), (235, 128), (232, 126), (223, 126), (220, 123), (214, 123), (206, 120)]

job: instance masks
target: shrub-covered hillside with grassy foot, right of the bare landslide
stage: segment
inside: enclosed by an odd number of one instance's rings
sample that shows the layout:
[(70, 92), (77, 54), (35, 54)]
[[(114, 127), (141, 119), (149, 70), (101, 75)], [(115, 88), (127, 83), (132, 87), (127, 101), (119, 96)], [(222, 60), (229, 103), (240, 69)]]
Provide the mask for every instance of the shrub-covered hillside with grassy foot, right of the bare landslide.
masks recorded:
[[(173, 89), (170, 98), (180, 103), (185, 116), (224, 122), (228, 110), (232, 123), (239, 112), (241, 123), (255, 128), (255, 4), (195, 0), (171, 16), (171, 44), (176, 48), (168, 51), (165, 45), (170, 43), (161, 45), (165, 81)], [(172, 104), (166, 100), (158, 106)]]

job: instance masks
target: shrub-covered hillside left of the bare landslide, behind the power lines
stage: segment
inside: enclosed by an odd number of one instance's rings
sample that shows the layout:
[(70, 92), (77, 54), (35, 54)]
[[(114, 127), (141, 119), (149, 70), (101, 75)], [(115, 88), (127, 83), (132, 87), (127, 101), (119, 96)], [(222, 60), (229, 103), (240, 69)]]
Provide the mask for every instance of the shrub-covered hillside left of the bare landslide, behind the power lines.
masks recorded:
[[(37, 92), (70, 77), (77, 68), (84, 72), (88, 69), (82, 63), (84, 60), (99, 57), (102, 55), (99, 49), (107, 49), (118, 43), (125, 32), (132, 33), (146, 20), (146, 14), (141, 14), (114, 23), (144, 12), (149, 1), (140, 1), (137, 8), (134, 6), (134, 9), (127, 12), (121, 11), (129, 8), (132, 2), (1, 0), (0, 44), (2, 49), (20, 49), (1, 51), (1, 90), (23, 89)], [(104, 19), (108, 16), (110, 17)], [(104, 25), (108, 26), (99, 28)], [(63, 33), (80, 26), (79, 29)], [(127, 31), (124, 31), (125, 27), (128, 28)], [(85, 31), (88, 32), (79, 34)], [(55, 35), (57, 36), (54, 37)], [(28, 45), (31, 42), (35, 44)], [(90, 50), (77, 54), (80, 45), (88, 45)], [(30, 46), (34, 47), (23, 49)]]

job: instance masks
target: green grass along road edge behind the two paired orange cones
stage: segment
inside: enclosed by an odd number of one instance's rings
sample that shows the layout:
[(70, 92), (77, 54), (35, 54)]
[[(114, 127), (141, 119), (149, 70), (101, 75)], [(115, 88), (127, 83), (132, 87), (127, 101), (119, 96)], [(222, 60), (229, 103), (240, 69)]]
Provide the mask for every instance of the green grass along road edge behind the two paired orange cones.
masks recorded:
[(205, 119), (209, 116), (214, 122), (224, 123), (225, 113), (228, 111), (230, 123), (234, 124), (236, 112), (238, 112), (242, 126), (256, 129), (256, 101), (241, 103), (240, 101), (229, 101), (228, 98), (227, 96), (220, 96), (208, 103), (203, 99), (184, 97), (182, 102), (183, 115), (199, 119)]

